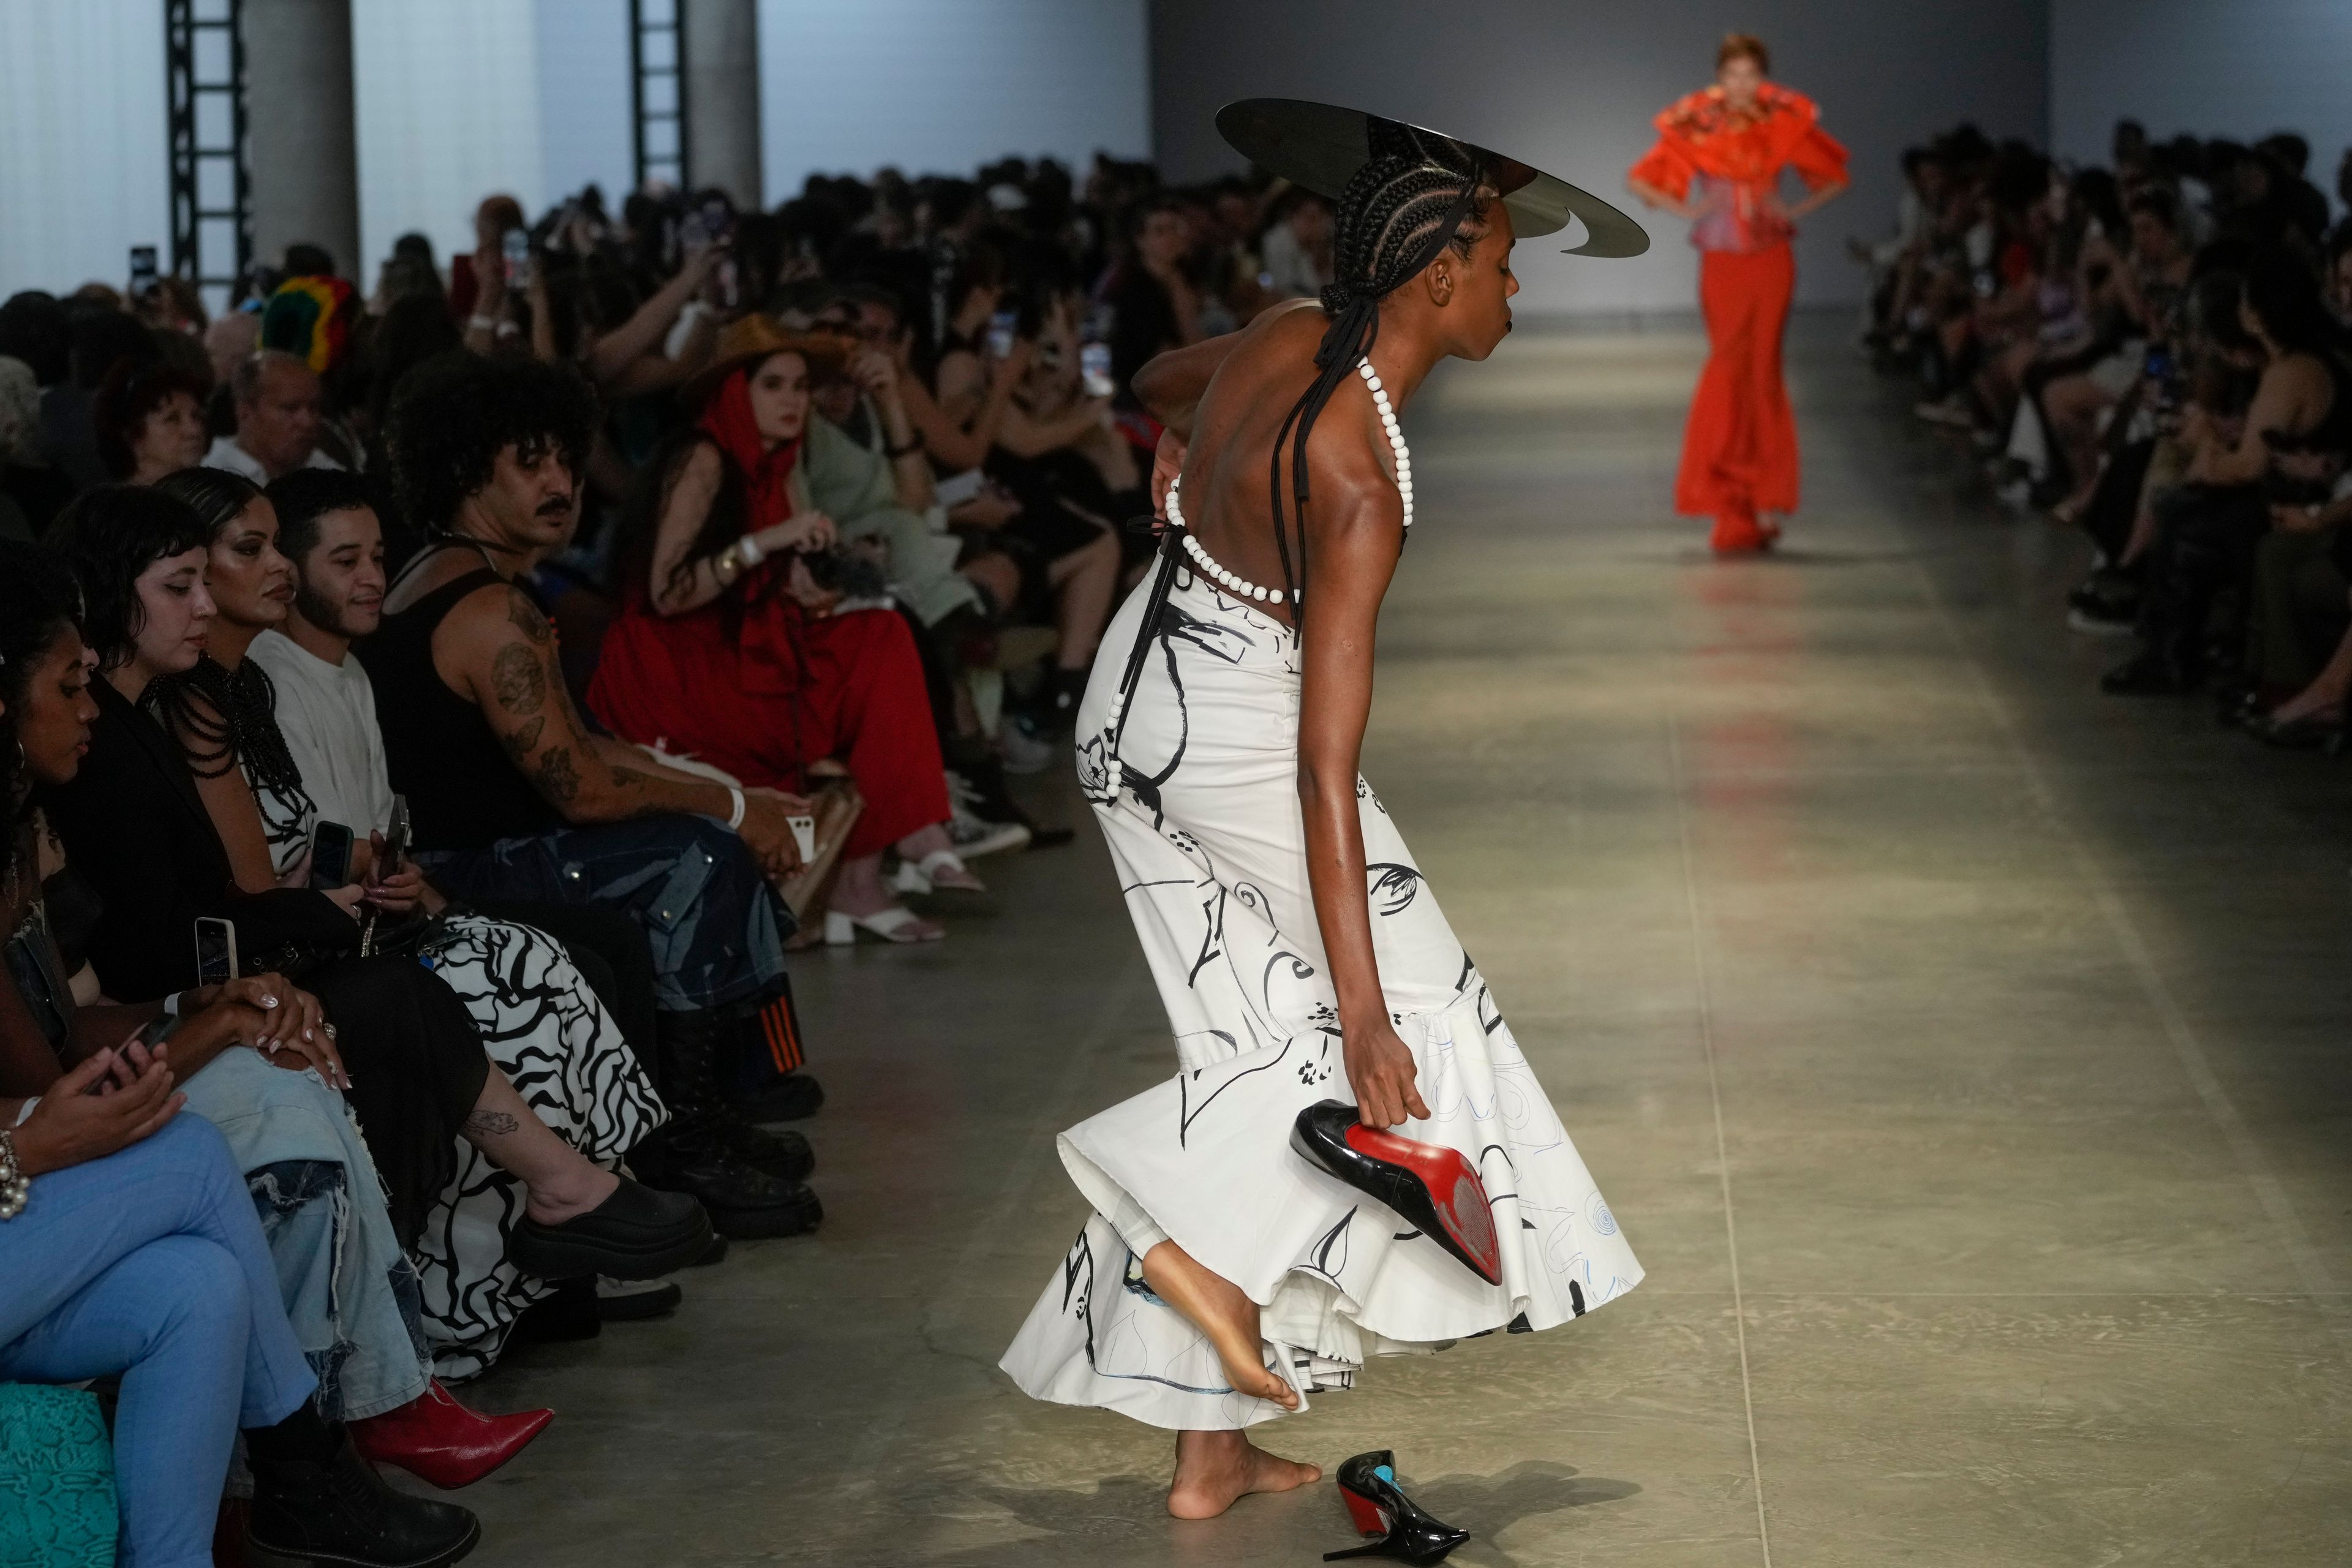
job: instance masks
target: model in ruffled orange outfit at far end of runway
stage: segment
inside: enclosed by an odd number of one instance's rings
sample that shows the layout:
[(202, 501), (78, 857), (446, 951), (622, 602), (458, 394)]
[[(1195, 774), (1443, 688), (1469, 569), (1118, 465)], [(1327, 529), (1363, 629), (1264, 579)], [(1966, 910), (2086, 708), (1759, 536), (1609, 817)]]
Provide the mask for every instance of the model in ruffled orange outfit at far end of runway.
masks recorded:
[[(1797, 219), (1846, 188), (1846, 148), (1802, 92), (1766, 82), (1771, 54), (1750, 33), (1715, 52), (1715, 87), (1658, 115), (1658, 146), (1625, 183), (1691, 221), (1708, 369), (1682, 430), (1675, 510), (1715, 517), (1719, 552), (1764, 550), (1797, 510), (1797, 421), (1780, 378), (1780, 334), (1797, 287)], [(1806, 197), (1780, 202), (1780, 169)]]

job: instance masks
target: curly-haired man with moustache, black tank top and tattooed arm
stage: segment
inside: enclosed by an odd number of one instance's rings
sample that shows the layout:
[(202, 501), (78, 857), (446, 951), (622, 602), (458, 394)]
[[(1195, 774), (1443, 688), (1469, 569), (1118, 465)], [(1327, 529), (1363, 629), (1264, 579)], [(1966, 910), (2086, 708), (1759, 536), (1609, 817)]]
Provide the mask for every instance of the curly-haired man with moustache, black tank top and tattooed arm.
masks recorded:
[[(430, 543), (393, 583), (381, 630), (358, 644), (390, 783), (409, 802), (419, 865), (449, 898), (604, 905), (640, 924), (673, 1105), (731, 1114), (720, 1067), (757, 1027), (788, 1077), (734, 1110), (807, 1114), (821, 1091), (790, 1072), (790, 912), (769, 886), (800, 863), (788, 818), (802, 802), (720, 785), (590, 731), (546, 616), (513, 581), (569, 536), (593, 418), (593, 395), (557, 364), (452, 355), (412, 374), (390, 451)], [(696, 1180), (729, 1206), (724, 1171), (673, 1154), (663, 1180)], [(746, 1211), (769, 1211), (779, 1194), (743, 1197), (757, 1199)], [(816, 1222), (814, 1194), (783, 1197), (802, 1227)]]

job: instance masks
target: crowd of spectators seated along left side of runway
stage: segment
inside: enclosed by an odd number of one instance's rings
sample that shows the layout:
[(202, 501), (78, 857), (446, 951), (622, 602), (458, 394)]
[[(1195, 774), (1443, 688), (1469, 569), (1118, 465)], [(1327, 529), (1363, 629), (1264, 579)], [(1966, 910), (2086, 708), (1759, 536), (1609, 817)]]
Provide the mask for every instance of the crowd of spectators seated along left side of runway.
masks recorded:
[(821, 1220), (788, 954), (1068, 837), (1129, 381), (1331, 277), (1108, 158), (475, 240), (0, 303), (0, 1385), (101, 1380), (129, 1561), (454, 1561), (374, 1465), (550, 1418), (454, 1387)]

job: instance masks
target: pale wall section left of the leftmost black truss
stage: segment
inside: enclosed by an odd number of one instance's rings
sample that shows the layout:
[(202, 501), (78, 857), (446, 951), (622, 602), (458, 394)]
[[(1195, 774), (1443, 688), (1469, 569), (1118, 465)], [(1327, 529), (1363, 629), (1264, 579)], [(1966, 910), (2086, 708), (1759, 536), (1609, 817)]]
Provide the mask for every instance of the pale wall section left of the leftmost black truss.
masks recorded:
[(0, 0), (0, 299), (172, 266), (158, 0)]

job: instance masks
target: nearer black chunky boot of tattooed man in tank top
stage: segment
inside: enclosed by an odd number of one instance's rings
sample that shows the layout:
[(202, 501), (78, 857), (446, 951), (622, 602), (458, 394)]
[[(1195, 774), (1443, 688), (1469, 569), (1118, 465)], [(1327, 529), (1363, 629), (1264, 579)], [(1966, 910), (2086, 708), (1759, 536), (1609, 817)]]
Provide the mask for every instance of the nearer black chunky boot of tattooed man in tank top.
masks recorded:
[[(826, 1218), (802, 1185), (816, 1166), (800, 1133), (762, 1133), (727, 1114), (715, 1081), (715, 1051), (727, 1023), (713, 1013), (663, 1013), (661, 1098), (670, 1124), (630, 1152), (647, 1187), (691, 1192), (722, 1237), (753, 1241), (797, 1237)], [(783, 1175), (797, 1168), (800, 1175)]]

